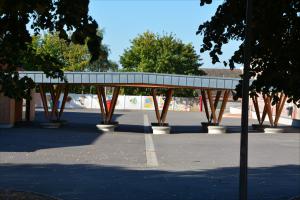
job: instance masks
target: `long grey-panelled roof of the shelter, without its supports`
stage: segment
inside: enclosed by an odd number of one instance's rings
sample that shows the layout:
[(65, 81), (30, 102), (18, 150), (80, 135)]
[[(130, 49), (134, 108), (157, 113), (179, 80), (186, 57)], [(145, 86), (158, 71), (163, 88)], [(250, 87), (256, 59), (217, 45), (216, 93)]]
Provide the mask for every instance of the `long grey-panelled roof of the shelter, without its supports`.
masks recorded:
[[(147, 72), (64, 72), (64, 80), (48, 77), (42, 71), (22, 71), (19, 76), (36, 84), (98, 85), (103, 87), (235, 89), (239, 78), (190, 76)], [(66, 82), (67, 81), (67, 82)]]

